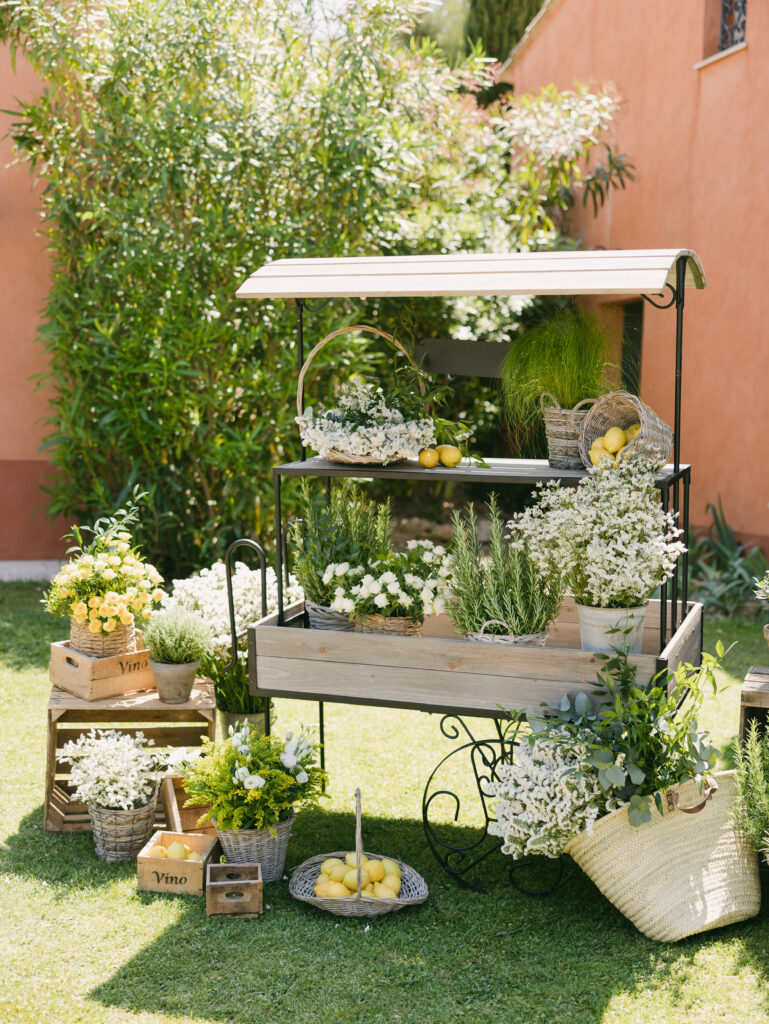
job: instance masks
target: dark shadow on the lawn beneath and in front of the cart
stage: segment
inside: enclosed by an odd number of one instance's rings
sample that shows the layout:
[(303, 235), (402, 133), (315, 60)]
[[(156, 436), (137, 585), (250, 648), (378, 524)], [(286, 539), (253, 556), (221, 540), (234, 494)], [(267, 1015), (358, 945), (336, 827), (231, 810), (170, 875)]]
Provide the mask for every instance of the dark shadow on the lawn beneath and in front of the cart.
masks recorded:
[[(303, 812), (289, 863), (349, 849), (353, 828), (350, 814)], [(765, 920), (659, 945), (579, 870), (538, 899), (499, 885), (505, 865), (489, 860), (489, 891), (477, 894), (442, 874), (420, 822), (367, 817), (364, 836), (367, 849), (425, 876), (426, 904), (377, 919), (335, 918), (294, 902), (279, 882), (265, 887), (269, 909), (260, 919), (238, 921), (209, 919), (203, 900), (188, 897), (181, 918), (90, 998), (231, 1024), (597, 1024), (624, 992), (646, 1001), (658, 991), (668, 1000), (687, 983), (696, 987), (699, 950), (722, 941), (731, 950), (735, 937), (737, 958), (769, 982)], [(168, 898), (142, 894), (140, 902)]]

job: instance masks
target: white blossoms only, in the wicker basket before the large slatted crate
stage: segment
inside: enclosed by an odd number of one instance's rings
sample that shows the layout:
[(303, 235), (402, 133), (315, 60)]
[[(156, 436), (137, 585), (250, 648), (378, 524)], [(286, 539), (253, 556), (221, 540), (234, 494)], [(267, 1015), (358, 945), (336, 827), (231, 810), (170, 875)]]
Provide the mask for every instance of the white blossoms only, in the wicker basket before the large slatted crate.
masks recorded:
[(141, 732), (91, 729), (65, 743), (60, 757), (72, 765), (74, 799), (85, 804), (130, 811), (148, 803), (158, 784), (160, 759)]

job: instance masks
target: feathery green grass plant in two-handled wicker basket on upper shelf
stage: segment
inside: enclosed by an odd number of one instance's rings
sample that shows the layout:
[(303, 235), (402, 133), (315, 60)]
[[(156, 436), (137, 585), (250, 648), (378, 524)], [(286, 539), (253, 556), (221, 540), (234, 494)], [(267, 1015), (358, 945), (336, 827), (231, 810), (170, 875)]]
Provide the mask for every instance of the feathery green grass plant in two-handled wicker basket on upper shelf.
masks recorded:
[(502, 368), (502, 397), (517, 452), (530, 447), (543, 416), (550, 464), (582, 468), (582, 407), (607, 390), (607, 357), (604, 328), (579, 306), (548, 315), (513, 342)]

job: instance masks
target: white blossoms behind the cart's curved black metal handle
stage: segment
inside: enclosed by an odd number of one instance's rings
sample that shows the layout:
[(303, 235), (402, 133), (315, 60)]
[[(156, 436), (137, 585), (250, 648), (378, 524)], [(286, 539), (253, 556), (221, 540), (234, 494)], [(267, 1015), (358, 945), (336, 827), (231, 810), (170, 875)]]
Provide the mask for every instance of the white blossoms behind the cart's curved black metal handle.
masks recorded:
[[(267, 614), (277, 610), (277, 579), (272, 568), (267, 569)], [(303, 591), (296, 578), (289, 577), (289, 586), (284, 586), (284, 604), (301, 601)], [(236, 562), (232, 573), (232, 598), (234, 602), (236, 629), (242, 633), (252, 623), (262, 617), (262, 575), (259, 569), (251, 569), (243, 562)], [(209, 569), (201, 569), (188, 580), (174, 580), (167, 608), (183, 608), (197, 611), (211, 627), (214, 634), (215, 656), (227, 656), (231, 639), (229, 635), (229, 610), (227, 607), (226, 571), (223, 562), (216, 562)]]

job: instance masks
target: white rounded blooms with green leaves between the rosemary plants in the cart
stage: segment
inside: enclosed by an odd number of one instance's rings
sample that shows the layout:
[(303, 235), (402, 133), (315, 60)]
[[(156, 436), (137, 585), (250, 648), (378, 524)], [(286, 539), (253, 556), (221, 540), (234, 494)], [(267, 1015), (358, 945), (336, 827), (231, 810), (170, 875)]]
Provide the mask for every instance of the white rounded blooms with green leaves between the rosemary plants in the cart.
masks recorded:
[(324, 583), (336, 582), (331, 607), (352, 615), (409, 616), (445, 610), (452, 570), (445, 549), (432, 541), (409, 541), (404, 551), (391, 552), (371, 566), (332, 563)]

